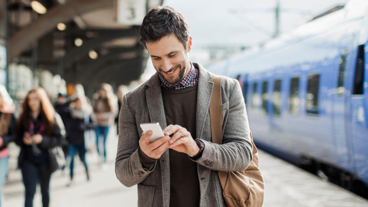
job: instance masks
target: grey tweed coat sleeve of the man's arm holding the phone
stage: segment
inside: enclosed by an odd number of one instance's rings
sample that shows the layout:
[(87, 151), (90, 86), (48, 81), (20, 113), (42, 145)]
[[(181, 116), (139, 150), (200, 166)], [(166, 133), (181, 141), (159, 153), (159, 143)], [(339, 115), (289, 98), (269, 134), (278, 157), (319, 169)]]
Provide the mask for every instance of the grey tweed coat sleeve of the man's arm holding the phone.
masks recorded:
[(115, 161), (117, 179), (130, 187), (141, 183), (155, 169), (156, 163), (149, 170), (144, 168), (139, 160), (139, 139), (134, 115), (128, 106), (124, 95), (119, 114), (119, 140)]

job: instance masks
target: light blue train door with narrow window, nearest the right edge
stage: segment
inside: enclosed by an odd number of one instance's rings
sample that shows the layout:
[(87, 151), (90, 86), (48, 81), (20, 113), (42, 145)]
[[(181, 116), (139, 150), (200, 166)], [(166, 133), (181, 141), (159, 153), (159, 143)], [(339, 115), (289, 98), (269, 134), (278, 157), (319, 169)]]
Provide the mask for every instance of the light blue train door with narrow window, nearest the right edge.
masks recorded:
[(353, 50), (354, 36), (348, 36), (340, 40), (340, 53), (338, 67), (333, 72), (333, 87), (335, 93), (332, 94), (332, 135), (335, 143), (336, 164), (347, 167), (351, 160), (348, 144), (348, 66), (351, 63), (351, 51)]

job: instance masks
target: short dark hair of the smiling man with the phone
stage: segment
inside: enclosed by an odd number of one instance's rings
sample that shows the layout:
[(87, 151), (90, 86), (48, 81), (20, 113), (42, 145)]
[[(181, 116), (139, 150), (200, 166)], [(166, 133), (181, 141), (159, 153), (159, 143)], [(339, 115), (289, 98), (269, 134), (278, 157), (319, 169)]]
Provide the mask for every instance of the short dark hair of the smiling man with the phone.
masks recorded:
[(169, 6), (157, 6), (148, 11), (143, 19), (141, 28), (141, 39), (146, 47), (146, 42), (157, 42), (166, 35), (174, 34), (183, 43), (187, 50), (189, 41), (189, 26), (183, 15)]

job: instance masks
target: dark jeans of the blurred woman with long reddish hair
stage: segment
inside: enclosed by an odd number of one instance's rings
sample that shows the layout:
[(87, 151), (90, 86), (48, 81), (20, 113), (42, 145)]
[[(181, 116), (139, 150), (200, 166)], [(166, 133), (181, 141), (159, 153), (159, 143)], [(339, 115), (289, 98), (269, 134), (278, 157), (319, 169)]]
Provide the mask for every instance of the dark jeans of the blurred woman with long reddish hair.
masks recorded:
[(50, 203), (50, 177), (51, 173), (47, 162), (34, 164), (24, 160), (22, 164), (22, 176), (25, 187), (25, 207), (33, 206), (33, 197), (36, 193), (36, 185), (39, 181), (42, 193), (42, 206), (48, 207)]

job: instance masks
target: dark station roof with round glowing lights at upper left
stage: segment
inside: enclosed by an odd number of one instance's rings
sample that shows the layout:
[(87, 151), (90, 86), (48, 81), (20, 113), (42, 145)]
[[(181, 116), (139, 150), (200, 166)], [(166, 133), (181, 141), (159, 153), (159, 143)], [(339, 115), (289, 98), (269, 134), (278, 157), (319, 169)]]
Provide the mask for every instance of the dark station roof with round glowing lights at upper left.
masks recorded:
[(139, 43), (140, 22), (162, 2), (38, 0), (46, 10), (39, 14), (34, 1), (8, 0), (8, 62), (33, 64), (70, 83), (128, 84), (148, 57)]

